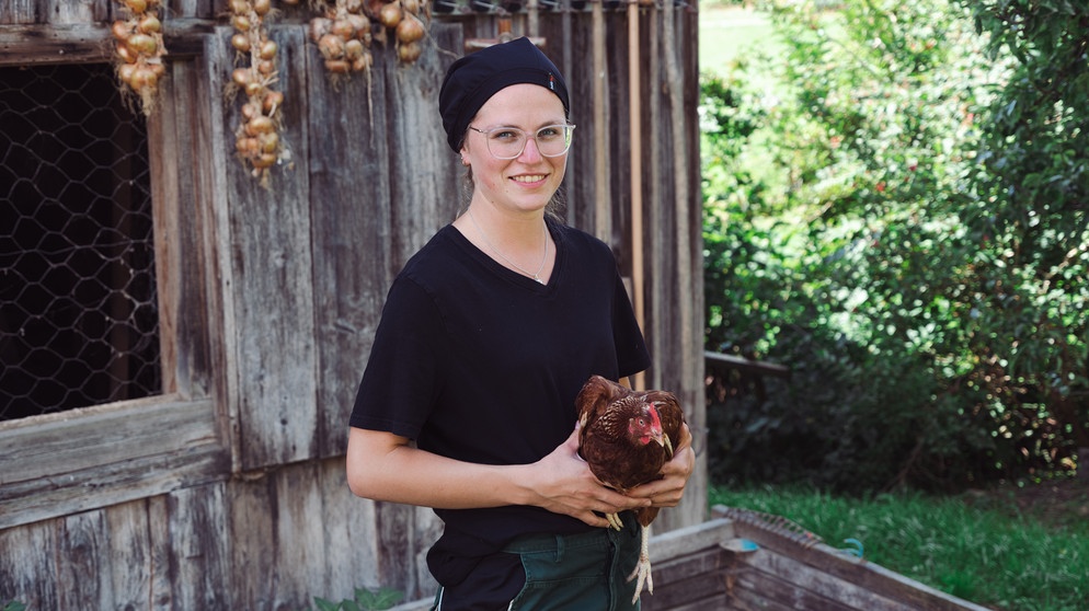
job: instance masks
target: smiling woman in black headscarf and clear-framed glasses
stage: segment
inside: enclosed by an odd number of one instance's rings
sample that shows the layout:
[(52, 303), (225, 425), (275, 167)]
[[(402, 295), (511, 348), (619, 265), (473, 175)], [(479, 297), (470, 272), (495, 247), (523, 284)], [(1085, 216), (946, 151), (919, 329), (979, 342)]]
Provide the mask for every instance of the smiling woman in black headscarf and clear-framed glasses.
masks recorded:
[(630, 609), (638, 529), (605, 512), (679, 503), (690, 434), (627, 496), (577, 456), (574, 397), (650, 365), (609, 247), (547, 207), (574, 126), (555, 66), (528, 39), (456, 61), (439, 94), (469, 170), (465, 214), (390, 288), (351, 419), (363, 497), (432, 507), (435, 609)]

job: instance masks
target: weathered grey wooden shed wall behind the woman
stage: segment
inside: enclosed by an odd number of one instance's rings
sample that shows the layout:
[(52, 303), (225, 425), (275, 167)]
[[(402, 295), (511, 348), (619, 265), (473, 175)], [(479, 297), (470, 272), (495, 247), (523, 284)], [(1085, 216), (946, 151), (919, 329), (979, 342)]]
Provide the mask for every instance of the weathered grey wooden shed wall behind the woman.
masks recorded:
[[(444, 18), (415, 65), (379, 48), (369, 79), (333, 82), (306, 36), (309, 13), (284, 8), (272, 35), (291, 163), (266, 187), (233, 155), (225, 4), (164, 11), (170, 78), (149, 119), (164, 395), (0, 423), (0, 601), (296, 609), (355, 587), (415, 598), (434, 586), (423, 564), (440, 528), (433, 514), (353, 497), (342, 457), (389, 283), (460, 205), (437, 120), (442, 74), (466, 38), (495, 35), (495, 16)], [(0, 2), (0, 64), (108, 61), (116, 13), (113, 0)], [(638, 15), (634, 43), (626, 9), (600, 4), (543, 12), (537, 34), (570, 81), (578, 125), (568, 220), (612, 244), (633, 286), (641, 257), (655, 357), (645, 383), (683, 397), (700, 445), (696, 13)], [(528, 32), (525, 15), (513, 19)], [(655, 530), (702, 521), (706, 486), (701, 462)]]

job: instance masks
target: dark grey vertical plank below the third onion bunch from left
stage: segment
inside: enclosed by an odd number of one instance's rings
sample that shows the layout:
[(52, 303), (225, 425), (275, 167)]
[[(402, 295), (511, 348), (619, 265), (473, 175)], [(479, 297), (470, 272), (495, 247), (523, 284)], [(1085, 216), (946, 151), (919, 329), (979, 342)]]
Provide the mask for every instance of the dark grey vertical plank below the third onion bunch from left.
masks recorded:
[[(348, 415), (391, 281), (387, 78), (331, 78), (307, 46), (320, 456), (347, 448)], [(374, 122), (371, 122), (374, 117)]]

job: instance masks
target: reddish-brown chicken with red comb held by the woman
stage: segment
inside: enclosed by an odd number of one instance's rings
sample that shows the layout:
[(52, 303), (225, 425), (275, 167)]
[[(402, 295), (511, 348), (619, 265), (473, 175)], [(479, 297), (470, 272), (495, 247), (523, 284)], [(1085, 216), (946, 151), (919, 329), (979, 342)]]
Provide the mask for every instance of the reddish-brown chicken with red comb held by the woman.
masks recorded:
[[(627, 493), (631, 488), (662, 477), (662, 465), (673, 458), (680, 442), (685, 413), (673, 393), (665, 391), (633, 391), (600, 376), (593, 376), (575, 399), (578, 410), (578, 453), (591, 471), (604, 484)], [(646, 591), (654, 593), (651, 578), (650, 526), (658, 515), (657, 507), (635, 509), (640, 533), (639, 563), (628, 576), (635, 579), (639, 599)], [(620, 518), (606, 516), (612, 528), (620, 530)]]

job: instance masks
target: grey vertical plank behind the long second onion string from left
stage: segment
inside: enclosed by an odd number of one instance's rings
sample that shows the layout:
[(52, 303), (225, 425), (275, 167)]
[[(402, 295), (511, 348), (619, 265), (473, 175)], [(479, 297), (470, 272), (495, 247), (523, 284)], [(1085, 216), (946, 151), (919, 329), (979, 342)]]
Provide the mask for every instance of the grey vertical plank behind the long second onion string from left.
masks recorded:
[[(229, 30), (218, 38), (230, 57)], [(238, 369), (241, 468), (262, 469), (317, 456), (317, 364), (306, 95), (305, 28), (274, 26), (279, 46), (276, 87), (284, 93), (282, 141), (290, 162), (271, 169), (267, 183), (237, 159), (227, 164), (230, 216), (229, 299), (234, 325), (228, 349)], [(226, 106), (223, 147), (234, 142), (241, 101)]]

